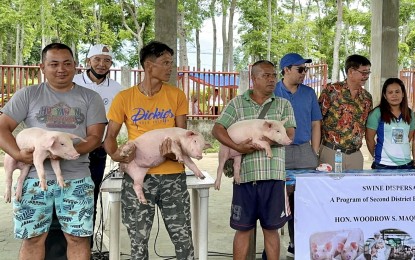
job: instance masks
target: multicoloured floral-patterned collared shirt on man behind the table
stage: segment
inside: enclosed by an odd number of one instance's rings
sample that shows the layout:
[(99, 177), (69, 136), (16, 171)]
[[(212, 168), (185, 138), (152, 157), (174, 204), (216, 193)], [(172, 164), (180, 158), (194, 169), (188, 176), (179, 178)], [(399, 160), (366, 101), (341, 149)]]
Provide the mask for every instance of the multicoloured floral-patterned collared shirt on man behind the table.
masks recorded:
[(372, 95), (361, 88), (352, 98), (347, 82), (337, 82), (323, 89), (318, 103), (323, 115), (322, 141), (341, 149), (360, 149)]

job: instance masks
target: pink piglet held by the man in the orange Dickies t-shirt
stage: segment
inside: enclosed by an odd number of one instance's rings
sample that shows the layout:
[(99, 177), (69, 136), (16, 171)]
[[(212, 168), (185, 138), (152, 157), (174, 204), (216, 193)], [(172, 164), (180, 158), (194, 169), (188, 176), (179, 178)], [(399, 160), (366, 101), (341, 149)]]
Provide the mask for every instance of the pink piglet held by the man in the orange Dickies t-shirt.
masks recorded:
[(148, 131), (133, 141), (128, 141), (120, 147), (120, 155), (126, 156), (135, 145), (135, 158), (128, 165), (121, 165), (134, 181), (134, 191), (140, 203), (146, 204), (143, 193), (144, 177), (147, 171), (163, 163), (166, 158), (160, 154), (160, 145), (167, 138), (172, 140), (171, 150), (178, 162), (184, 163), (196, 177), (204, 179), (202, 172), (191, 158), (202, 159), (203, 149), (209, 147), (203, 136), (195, 131), (179, 127), (155, 129)]

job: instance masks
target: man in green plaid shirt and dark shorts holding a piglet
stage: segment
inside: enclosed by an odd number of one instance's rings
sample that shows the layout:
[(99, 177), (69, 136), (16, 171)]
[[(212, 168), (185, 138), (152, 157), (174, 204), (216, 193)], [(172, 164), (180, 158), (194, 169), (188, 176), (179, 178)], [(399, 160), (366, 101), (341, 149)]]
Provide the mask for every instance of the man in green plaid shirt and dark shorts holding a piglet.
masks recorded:
[(251, 69), (253, 89), (232, 99), (217, 119), (212, 134), (222, 144), (244, 154), (241, 163), (241, 183), (233, 184), (230, 226), (236, 230), (233, 242), (234, 259), (245, 259), (249, 249), (249, 238), (259, 219), (265, 251), (269, 260), (279, 259), (280, 238), (277, 230), (291, 218), (285, 192), (285, 149), (272, 147), (273, 157), (251, 140), (236, 144), (226, 129), (232, 124), (258, 118), (265, 104), (272, 102), (264, 119), (283, 120), (287, 135), (294, 139), (296, 127), (294, 111), (290, 102), (276, 97), (277, 83), (275, 66), (261, 60)]

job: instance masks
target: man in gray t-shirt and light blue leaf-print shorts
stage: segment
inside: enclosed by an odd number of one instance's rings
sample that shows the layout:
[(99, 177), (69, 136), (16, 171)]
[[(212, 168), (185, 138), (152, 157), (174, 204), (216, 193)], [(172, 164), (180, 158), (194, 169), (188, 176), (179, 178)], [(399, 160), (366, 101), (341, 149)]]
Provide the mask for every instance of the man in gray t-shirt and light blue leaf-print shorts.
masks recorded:
[(44, 243), (52, 221), (53, 207), (68, 243), (68, 259), (90, 259), (88, 237), (92, 235), (94, 183), (88, 168), (88, 153), (101, 145), (105, 107), (94, 91), (72, 83), (75, 61), (72, 50), (52, 43), (42, 51), (40, 68), (46, 82), (16, 92), (1, 110), (0, 148), (17, 161), (33, 164), (33, 154), (20, 150), (12, 131), (24, 122), (26, 127), (75, 134), (87, 142), (76, 142), (81, 156), (60, 161), (66, 187), (59, 187), (50, 161), (46, 160), (47, 191), (39, 187), (35, 167), (23, 184), (22, 199), (13, 201), (15, 237), (23, 239), (20, 259), (43, 259)]

